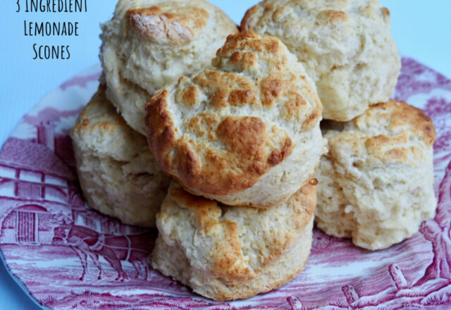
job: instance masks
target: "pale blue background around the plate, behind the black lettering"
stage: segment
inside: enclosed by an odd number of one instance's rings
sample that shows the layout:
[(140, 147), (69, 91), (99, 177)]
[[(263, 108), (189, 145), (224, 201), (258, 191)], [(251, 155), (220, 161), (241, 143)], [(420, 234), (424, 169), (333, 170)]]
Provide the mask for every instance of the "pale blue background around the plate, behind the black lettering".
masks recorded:
[[(99, 62), (99, 23), (111, 18), (116, 0), (87, 0), (87, 13), (25, 13), (17, 0), (0, 1), (0, 145), (45, 94)], [(211, 0), (239, 23), (256, 0)], [(451, 77), (451, 1), (381, 0), (392, 16), (400, 53)], [(20, 0), (25, 6), (25, 0)], [(24, 20), (79, 23), (78, 37), (25, 37)], [(69, 60), (32, 60), (33, 44), (70, 45)], [(0, 309), (40, 309), (0, 263)]]

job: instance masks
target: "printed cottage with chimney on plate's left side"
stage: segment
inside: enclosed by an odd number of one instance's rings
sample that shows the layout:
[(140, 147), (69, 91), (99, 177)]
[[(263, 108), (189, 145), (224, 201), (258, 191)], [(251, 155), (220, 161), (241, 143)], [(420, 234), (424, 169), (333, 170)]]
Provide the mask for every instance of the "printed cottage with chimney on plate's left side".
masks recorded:
[[(51, 123), (42, 123), (37, 126), (36, 143), (10, 138), (4, 146), (0, 157), (1, 243), (51, 244), (52, 213), (68, 212), (67, 206), (85, 209), (73, 173), (54, 153), (53, 129)], [(42, 158), (46, 164), (39, 169), (35, 163)]]

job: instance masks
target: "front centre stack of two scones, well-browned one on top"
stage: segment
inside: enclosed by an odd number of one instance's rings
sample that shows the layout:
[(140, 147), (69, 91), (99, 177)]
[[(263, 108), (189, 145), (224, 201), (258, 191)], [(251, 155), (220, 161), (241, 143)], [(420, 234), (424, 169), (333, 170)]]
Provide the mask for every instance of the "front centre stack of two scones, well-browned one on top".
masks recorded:
[(321, 102), (276, 37), (230, 35), (212, 64), (147, 104), (150, 148), (179, 184), (157, 216), (152, 266), (206, 297), (247, 298), (307, 262)]

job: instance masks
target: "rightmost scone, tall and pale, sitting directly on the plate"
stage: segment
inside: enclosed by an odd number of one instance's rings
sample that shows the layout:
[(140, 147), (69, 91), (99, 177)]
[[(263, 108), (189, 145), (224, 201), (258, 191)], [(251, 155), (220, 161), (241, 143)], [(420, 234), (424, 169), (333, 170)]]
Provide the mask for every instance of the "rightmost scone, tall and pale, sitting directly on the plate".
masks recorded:
[(321, 127), (329, 151), (316, 171), (319, 228), (384, 249), (433, 217), (435, 129), (422, 111), (390, 100), (350, 122)]

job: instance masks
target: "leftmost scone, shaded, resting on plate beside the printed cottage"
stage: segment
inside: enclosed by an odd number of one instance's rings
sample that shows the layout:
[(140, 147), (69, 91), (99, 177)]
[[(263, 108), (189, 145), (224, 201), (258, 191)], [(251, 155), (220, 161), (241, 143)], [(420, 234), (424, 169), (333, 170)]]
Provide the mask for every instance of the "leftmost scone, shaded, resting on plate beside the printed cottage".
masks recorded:
[(171, 178), (161, 171), (146, 138), (118, 115), (99, 87), (70, 136), (87, 204), (123, 223), (155, 227)]

